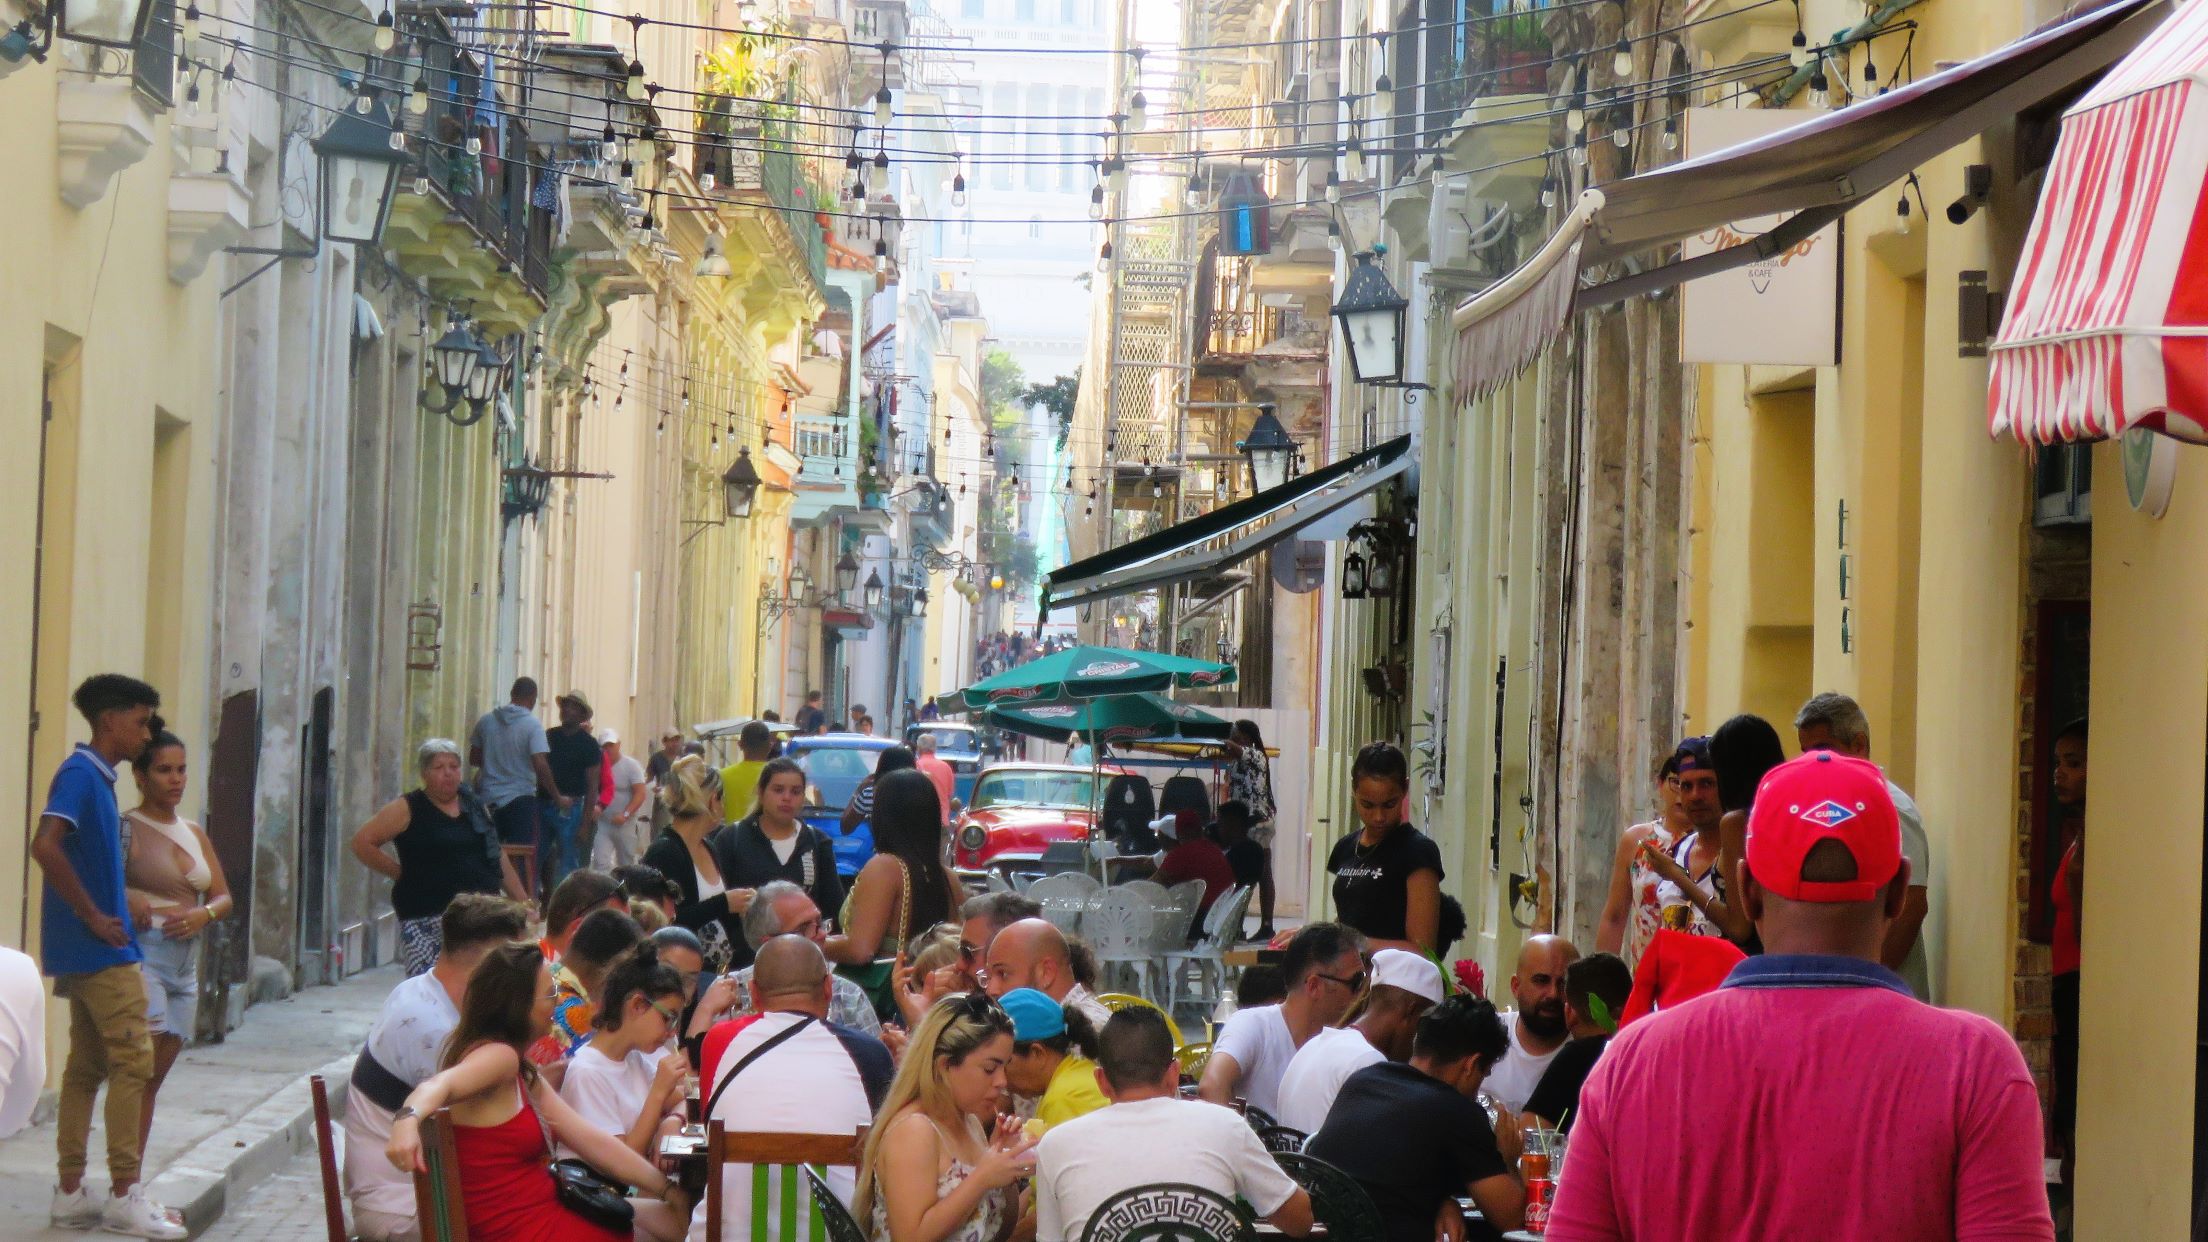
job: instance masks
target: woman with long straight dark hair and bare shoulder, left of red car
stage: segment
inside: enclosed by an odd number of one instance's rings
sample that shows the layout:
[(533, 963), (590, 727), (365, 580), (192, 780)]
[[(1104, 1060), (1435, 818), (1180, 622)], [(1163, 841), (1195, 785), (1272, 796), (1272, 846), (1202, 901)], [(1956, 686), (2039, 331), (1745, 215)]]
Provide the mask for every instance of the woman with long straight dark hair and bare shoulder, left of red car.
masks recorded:
[(874, 782), (874, 857), (852, 877), (841, 935), (828, 961), (863, 966), (905, 948), (914, 930), (952, 922), (963, 902), (943, 864), (943, 796), (925, 771), (899, 769)]

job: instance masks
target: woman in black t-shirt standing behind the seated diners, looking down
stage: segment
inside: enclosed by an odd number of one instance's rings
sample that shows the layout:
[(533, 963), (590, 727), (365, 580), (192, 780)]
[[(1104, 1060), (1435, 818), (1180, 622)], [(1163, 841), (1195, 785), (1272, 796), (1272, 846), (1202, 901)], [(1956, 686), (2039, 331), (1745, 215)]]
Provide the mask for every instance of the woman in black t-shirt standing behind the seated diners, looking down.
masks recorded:
[(1411, 765), (1389, 743), (1371, 743), (1349, 767), (1356, 833), (1334, 842), (1334, 917), (1378, 948), (1433, 952), (1442, 928), (1442, 851), (1404, 822)]

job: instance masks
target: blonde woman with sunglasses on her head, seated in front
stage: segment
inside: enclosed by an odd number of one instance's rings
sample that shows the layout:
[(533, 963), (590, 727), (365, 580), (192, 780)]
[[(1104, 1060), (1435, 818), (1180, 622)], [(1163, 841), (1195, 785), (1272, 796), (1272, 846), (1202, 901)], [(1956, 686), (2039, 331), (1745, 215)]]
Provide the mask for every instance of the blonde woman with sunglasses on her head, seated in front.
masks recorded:
[(1011, 1019), (987, 992), (927, 1010), (859, 1162), (852, 1209), (874, 1242), (1002, 1242), (1018, 1224), (1036, 1140), (1000, 1112), (1009, 1061)]

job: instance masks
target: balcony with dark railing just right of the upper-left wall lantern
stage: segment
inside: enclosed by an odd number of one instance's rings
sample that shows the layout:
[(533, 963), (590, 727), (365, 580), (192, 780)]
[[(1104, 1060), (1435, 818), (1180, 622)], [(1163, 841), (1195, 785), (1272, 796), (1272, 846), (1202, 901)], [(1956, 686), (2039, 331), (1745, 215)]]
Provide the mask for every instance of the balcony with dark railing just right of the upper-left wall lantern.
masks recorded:
[(431, 104), (404, 115), (413, 168), (400, 172), (386, 243), (431, 296), (523, 331), (543, 314), (552, 217), (530, 206), (539, 159), (519, 91), (486, 77), (439, 11), (402, 11), (400, 29), (417, 49), (417, 62), (400, 71), (431, 82)]

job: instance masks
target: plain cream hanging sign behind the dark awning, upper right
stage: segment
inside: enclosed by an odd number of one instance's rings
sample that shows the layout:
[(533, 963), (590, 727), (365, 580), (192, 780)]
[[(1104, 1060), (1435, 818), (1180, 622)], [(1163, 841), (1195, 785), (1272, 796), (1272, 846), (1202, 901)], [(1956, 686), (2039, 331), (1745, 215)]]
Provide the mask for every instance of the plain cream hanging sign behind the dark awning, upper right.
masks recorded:
[[(1784, 108), (1687, 108), (1687, 159), (1760, 139), (1802, 119)], [(1753, 243), (1786, 217), (1731, 221), (1687, 236), (1680, 259)], [(1839, 362), (1839, 225), (1680, 287), (1680, 362), (1830, 367)]]

